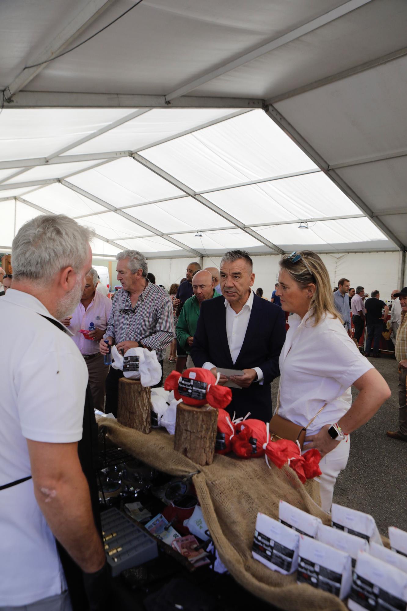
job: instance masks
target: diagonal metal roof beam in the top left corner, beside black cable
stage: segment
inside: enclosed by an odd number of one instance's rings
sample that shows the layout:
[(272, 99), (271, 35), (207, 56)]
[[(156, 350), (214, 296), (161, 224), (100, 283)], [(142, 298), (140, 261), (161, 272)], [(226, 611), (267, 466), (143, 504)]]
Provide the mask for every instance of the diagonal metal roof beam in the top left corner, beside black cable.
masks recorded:
[(115, 1), (116, 0), (88, 0), (70, 23), (58, 32), (56, 37), (54, 37), (38, 55), (28, 58), (26, 65), (40, 65), (34, 68), (24, 68), (14, 81), (10, 83), (9, 87), (7, 87), (10, 95), (13, 96), (16, 92), (20, 91), (20, 89), (26, 87), (34, 76), (37, 76), (37, 74), (45, 68), (47, 60), (53, 59), (53, 57), (66, 49), (71, 42), (78, 38), (78, 36)]

